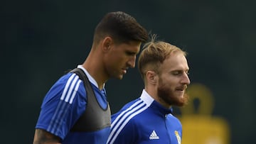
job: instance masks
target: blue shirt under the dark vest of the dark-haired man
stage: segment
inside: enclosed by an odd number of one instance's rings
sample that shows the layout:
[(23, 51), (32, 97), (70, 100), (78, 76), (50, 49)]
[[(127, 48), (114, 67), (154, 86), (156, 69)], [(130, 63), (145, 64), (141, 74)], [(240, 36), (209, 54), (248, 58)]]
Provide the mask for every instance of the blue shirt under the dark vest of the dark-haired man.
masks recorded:
[[(97, 82), (79, 65), (87, 75), (100, 106), (107, 108), (105, 88), (98, 89)], [(50, 88), (41, 106), (36, 128), (46, 130), (61, 138), (63, 144), (102, 144), (107, 142), (110, 127), (93, 132), (70, 132), (75, 122), (85, 112), (86, 92), (82, 80), (75, 73), (60, 77)]]

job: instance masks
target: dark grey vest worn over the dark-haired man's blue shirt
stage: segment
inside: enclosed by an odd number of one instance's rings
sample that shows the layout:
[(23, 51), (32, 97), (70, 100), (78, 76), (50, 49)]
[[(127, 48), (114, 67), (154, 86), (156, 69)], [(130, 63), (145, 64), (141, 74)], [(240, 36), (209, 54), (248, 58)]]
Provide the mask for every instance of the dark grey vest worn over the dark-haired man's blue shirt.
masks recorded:
[(84, 82), (87, 95), (85, 113), (82, 113), (82, 116), (80, 116), (70, 131), (97, 131), (110, 126), (111, 113), (109, 104), (107, 104), (107, 109), (102, 109), (95, 97), (95, 92), (92, 89), (89, 79), (83, 70), (75, 68), (70, 72), (78, 74), (79, 78)]

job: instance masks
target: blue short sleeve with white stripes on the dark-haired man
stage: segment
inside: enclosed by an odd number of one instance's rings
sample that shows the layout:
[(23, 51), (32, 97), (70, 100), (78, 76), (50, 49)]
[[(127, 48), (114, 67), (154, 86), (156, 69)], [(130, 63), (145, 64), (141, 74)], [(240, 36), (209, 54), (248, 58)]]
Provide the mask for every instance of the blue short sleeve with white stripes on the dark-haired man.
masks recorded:
[(85, 87), (78, 75), (65, 74), (55, 82), (43, 99), (36, 128), (65, 138), (85, 111), (85, 94)]

